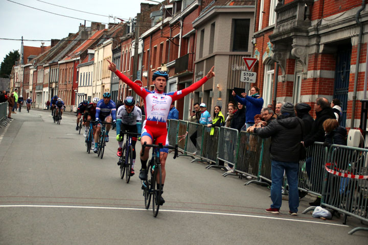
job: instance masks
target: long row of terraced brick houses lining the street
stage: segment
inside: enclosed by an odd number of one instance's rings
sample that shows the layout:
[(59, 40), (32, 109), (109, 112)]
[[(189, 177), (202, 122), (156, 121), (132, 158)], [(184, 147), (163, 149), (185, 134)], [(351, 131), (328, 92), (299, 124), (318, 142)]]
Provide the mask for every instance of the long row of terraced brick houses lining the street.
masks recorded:
[[(92, 22), (48, 47), (21, 46), (11, 87), (35, 106), (57, 94), (75, 111), (105, 91), (123, 100), (131, 89), (107, 70), (107, 60), (152, 90), (155, 70), (169, 73), (167, 91), (198, 81), (215, 66), (216, 77), (175, 102), (180, 119), (193, 103), (226, 105), (231, 92), (258, 86), (264, 106), (338, 98), (342, 125), (366, 129), (368, 7), (361, 0), (166, 0), (141, 4), (129, 21)], [(32, 52), (31, 52), (32, 51)], [(257, 58), (255, 83), (241, 82), (242, 57)], [(137, 97), (138, 103), (142, 103)], [(362, 103), (363, 102), (363, 103)], [(363, 120), (360, 120), (360, 119)]]

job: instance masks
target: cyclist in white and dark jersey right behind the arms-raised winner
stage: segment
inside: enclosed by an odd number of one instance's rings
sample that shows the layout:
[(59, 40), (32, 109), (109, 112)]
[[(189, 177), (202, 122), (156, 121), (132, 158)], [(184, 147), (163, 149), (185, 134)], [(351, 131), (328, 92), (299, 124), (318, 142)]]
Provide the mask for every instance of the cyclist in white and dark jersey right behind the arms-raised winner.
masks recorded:
[[(139, 107), (134, 106), (134, 98), (132, 96), (127, 96), (124, 100), (124, 105), (119, 107), (117, 113), (117, 140), (119, 143), (119, 148), (117, 155), (122, 156), (123, 150), (123, 139), (124, 134), (121, 132), (129, 131), (131, 133), (141, 133), (142, 131), (142, 111)], [(135, 143), (137, 137), (132, 137), (133, 146), (133, 164), (130, 172), (130, 176), (134, 175), (134, 163), (135, 163)], [(119, 164), (120, 162), (118, 162)]]

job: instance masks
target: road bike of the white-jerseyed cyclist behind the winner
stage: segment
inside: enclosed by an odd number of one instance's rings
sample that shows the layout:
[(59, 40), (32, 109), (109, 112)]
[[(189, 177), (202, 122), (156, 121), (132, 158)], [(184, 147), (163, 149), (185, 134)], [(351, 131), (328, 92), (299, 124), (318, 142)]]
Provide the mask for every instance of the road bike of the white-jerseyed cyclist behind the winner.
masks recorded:
[(126, 135), (125, 143), (122, 150), (122, 156), (119, 158), (118, 165), (120, 165), (120, 178), (124, 179), (125, 175), (125, 181), (129, 183), (130, 180), (130, 172), (133, 166), (133, 145), (132, 137), (133, 136), (139, 136), (140, 133), (133, 133), (128, 131), (121, 131), (121, 134)]

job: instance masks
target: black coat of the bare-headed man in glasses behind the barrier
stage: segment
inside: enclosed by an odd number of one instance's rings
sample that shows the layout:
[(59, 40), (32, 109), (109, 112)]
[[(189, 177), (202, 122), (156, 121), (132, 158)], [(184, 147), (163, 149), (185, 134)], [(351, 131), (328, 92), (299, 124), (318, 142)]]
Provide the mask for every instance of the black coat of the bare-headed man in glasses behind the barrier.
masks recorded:
[(323, 122), (330, 118), (336, 119), (331, 107), (327, 107), (316, 112), (316, 119), (313, 122), (312, 129), (304, 139), (305, 147), (312, 145), (314, 142), (325, 142)]

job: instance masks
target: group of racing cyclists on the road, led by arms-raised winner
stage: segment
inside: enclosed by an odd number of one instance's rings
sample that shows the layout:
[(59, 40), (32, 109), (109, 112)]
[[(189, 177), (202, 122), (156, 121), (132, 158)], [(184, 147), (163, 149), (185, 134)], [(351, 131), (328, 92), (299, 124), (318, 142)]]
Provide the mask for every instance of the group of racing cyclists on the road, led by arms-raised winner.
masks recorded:
[[(140, 137), (132, 137), (133, 146), (133, 164), (131, 168), (130, 176), (134, 175), (134, 163), (136, 158), (135, 144), (137, 139), (140, 138), (141, 144), (159, 144), (168, 145), (168, 132), (167, 132), (167, 117), (170, 111), (171, 104), (186, 96), (190, 92), (201, 87), (206, 81), (215, 76), (213, 72), (214, 67), (208, 72), (208, 74), (191, 86), (175, 91), (165, 93), (166, 82), (169, 78), (165, 71), (155, 71), (152, 75), (152, 81), (155, 86), (153, 91), (144, 89), (139, 85), (136, 85), (128, 77), (123, 75), (114, 63), (109, 62), (108, 69), (114, 72), (124, 83), (130, 86), (135, 93), (141, 96), (145, 104), (145, 115), (146, 119), (142, 122), (142, 111), (139, 107), (135, 106), (135, 100), (132, 96), (127, 96), (124, 100), (124, 105), (120, 106), (117, 110), (116, 104), (111, 100), (111, 94), (109, 92), (103, 93), (103, 99), (94, 97), (91, 103), (84, 100), (78, 105), (77, 110), (77, 127), (79, 130), (79, 122), (82, 115), (84, 115), (83, 125), (85, 126), (84, 136), (86, 137), (89, 127), (93, 127), (94, 140), (94, 152), (98, 152), (98, 139), (102, 127), (102, 122), (109, 122), (106, 125), (106, 142), (109, 142), (109, 131), (112, 126), (116, 126), (116, 132), (118, 140), (118, 151), (117, 156), (122, 156), (123, 139), (126, 131), (132, 133), (141, 133)], [(59, 105), (63, 105), (61, 99), (55, 95), (51, 102), (52, 111), (54, 108), (62, 110)], [(92, 124), (90, 122), (93, 122)], [(147, 161), (149, 158), (149, 147), (144, 147), (144, 152), (140, 152), (141, 169), (139, 178), (141, 180), (147, 180)], [(159, 150), (160, 165), (162, 168), (162, 189), (166, 178), (165, 163), (168, 156), (168, 149), (163, 148)], [(119, 162), (118, 162), (119, 165)], [(157, 185), (158, 185), (157, 178)], [(165, 200), (160, 195), (159, 205), (163, 205)]]

